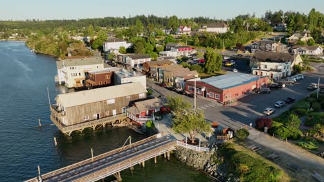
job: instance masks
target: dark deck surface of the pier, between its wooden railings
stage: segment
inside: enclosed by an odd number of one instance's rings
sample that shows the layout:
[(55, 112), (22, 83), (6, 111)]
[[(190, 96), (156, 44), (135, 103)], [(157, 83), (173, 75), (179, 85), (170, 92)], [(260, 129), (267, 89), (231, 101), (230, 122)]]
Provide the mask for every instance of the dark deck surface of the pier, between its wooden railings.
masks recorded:
[(138, 145), (135, 148), (130, 148), (128, 150), (124, 150), (123, 152), (118, 152), (98, 161), (94, 161), (93, 163), (87, 163), (85, 165), (79, 166), (78, 168), (73, 168), (73, 170), (69, 170), (67, 172), (63, 172), (61, 174), (52, 176), (51, 178), (43, 179), (43, 181), (73, 181), (75, 179), (79, 179), (82, 176), (91, 174), (92, 172), (96, 172), (98, 170), (102, 170), (103, 168), (107, 168), (109, 165), (120, 163), (125, 159), (137, 156), (138, 154), (147, 152), (159, 146), (166, 145), (170, 142), (173, 141), (170, 140), (168, 136), (163, 136), (159, 139), (154, 139), (152, 141), (148, 141), (147, 143)]

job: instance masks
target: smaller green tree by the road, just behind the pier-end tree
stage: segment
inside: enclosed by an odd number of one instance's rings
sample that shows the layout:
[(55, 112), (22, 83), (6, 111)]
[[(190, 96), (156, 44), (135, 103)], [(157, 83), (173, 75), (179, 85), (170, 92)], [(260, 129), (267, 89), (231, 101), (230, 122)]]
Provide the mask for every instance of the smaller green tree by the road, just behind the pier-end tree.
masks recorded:
[(170, 110), (174, 112), (181, 112), (192, 107), (192, 105), (183, 97), (172, 97), (170, 95), (167, 95), (166, 99)]

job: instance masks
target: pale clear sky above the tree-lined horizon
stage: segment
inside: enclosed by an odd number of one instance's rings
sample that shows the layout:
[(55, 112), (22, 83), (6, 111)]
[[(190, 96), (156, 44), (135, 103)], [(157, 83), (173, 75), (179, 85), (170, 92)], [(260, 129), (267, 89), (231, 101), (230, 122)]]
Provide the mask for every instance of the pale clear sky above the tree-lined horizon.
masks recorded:
[(85, 19), (154, 14), (181, 18), (231, 19), (239, 14), (261, 17), (267, 10), (324, 13), (324, 0), (1, 0), (0, 20)]

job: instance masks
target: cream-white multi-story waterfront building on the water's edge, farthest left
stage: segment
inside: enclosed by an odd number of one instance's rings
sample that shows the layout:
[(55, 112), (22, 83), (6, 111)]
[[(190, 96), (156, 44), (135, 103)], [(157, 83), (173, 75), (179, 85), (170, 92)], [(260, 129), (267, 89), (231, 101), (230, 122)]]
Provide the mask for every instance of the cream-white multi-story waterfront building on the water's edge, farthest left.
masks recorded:
[(84, 86), (89, 71), (103, 68), (101, 57), (63, 59), (57, 61), (57, 81), (65, 83), (67, 88), (81, 88)]

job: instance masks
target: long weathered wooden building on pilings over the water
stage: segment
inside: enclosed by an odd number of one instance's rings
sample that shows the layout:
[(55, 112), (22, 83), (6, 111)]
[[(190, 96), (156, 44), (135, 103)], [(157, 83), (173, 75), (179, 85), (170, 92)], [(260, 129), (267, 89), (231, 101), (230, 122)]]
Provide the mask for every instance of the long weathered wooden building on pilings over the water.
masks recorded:
[(138, 83), (59, 94), (56, 104), (51, 105), (51, 119), (60, 129), (87, 122), (96, 124), (97, 120), (125, 113), (132, 103), (146, 97), (145, 86)]

